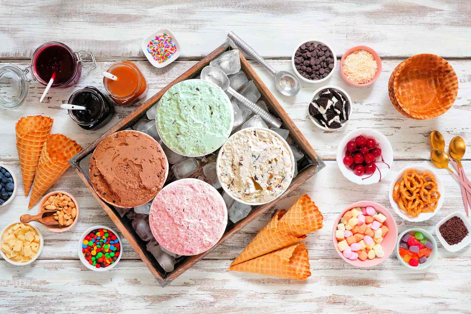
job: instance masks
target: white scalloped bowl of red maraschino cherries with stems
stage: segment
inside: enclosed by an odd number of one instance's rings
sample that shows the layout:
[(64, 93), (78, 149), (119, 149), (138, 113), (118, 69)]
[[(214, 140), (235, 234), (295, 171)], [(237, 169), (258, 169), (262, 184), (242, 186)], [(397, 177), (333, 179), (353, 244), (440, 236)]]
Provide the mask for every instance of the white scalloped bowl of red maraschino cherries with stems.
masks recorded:
[(381, 181), (391, 169), (392, 162), (390, 142), (374, 129), (351, 131), (337, 148), (337, 164), (341, 173), (357, 184)]

